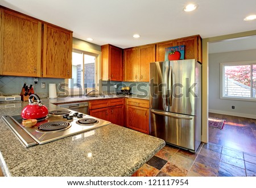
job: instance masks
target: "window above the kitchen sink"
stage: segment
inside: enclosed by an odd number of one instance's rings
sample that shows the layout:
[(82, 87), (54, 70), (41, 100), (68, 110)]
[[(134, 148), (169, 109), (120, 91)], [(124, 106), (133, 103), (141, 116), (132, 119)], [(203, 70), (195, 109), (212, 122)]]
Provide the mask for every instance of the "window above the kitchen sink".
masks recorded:
[(84, 90), (98, 90), (98, 59), (97, 54), (73, 50), (72, 78), (68, 79), (69, 91), (73, 91), (73, 94), (84, 94)]

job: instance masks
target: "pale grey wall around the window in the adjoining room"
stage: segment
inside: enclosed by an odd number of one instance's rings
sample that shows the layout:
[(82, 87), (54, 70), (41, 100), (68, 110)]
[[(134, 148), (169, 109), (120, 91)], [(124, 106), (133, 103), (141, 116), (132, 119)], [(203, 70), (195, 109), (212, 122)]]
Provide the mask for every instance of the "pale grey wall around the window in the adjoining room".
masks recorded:
[(220, 99), (220, 63), (253, 60), (256, 49), (209, 54), (209, 112), (256, 119), (256, 102)]

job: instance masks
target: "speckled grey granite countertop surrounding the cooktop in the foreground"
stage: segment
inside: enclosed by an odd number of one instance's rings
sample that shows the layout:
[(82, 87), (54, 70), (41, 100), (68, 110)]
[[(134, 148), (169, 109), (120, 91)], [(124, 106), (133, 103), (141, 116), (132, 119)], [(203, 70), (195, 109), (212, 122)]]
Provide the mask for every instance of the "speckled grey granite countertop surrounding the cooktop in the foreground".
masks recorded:
[[(48, 110), (58, 108), (51, 99)], [(28, 102), (0, 105), (17, 115)], [(131, 176), (165, 145), (164, 140), (109, 124), (75, 136), (25, 148), (0, 120), (0, 166), (5, 176)]]

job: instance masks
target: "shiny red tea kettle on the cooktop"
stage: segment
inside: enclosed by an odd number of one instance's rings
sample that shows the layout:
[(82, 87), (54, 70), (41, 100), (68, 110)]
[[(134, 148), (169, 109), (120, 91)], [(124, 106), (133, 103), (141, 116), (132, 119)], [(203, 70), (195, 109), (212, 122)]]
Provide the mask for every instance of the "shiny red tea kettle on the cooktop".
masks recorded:
[[(38, 102), (34, 102), (33, 98)], [(41, 103), (41, 99), (36, 94), (31, 94), (28, 98), (28, 105), (22, 110), (21, 116), (23, 119), (43, 119), (48, 114), (48, 109)]]

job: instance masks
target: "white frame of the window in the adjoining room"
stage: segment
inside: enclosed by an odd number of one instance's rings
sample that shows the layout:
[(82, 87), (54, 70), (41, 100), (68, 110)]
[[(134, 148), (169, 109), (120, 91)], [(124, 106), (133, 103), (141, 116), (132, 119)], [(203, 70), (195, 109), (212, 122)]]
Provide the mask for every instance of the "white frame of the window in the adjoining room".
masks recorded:
[[(253, 71), (252, 65), (256, 65), (256, 61), (237, 61), (237, 62), (221, 62), (220, 63), (220, 98), (221, 99), (231, 99), (237, 101), (251, 101), (256, 102), (256, 97), (236, 97), (236, 96), (227, 96), (225, 95), (225, 66), (243, 66), (250, 65), (251, 66), (251, 86), (253, 85)], [(250, 87), (250, 95), (253, 92), (253, 87)], [(252, 95), (251, 95), (252, 96)]]

